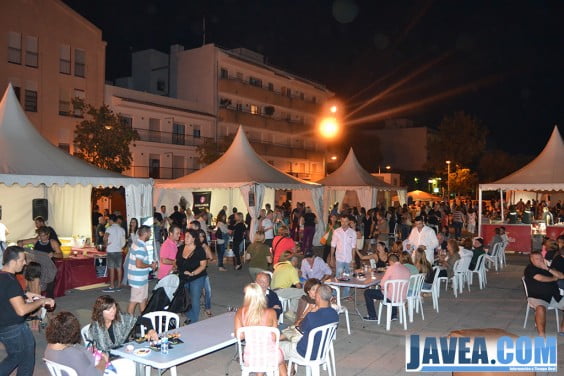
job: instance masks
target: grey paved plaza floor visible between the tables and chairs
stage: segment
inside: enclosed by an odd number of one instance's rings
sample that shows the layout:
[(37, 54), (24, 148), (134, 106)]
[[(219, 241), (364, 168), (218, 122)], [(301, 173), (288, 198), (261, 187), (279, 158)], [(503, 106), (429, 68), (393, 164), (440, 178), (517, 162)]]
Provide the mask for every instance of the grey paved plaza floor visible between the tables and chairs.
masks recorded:
[[(500, 328), (516, 335), (536, 335), (533, 315), (529, 315), (527, 329), (523, 329), (525, 315), (525, 298), (521, 276), (528, 262), (523, 255), (509, 255), (508, 266), (499, 272), (488, 272), (486, 289), (478, 288), (477, 278), (474, 278), (472, 291), (464, 291), (458, 298), (454, 298), (452, 290), (445, 292), (444, 287), (439, 299), (440, 313), (432, 308), (431, 298), (426, 298), (423, 306), (425, 320), (415, 316), (413, 323), (408, 323), (407, 331), (403, 330), (399, 322), (393, 322), (392, 328), (386, 332), (384, 321), (377, 323), (364, 322), (355, 313), (353, 303), (347, 302), (349, 308), (351, 335), (347, 335), (344, 315), (337, 331), (335, 354), (337, 375), (404, 375), (405, 372), (405, 338), (408, 334), (422, 336), (444, 336), (450, 331), (465, 328)], [(215, 265), (209, 267), (212, 284), (212, 311), (220, 314), (227, 311), (228, 306), (239, 306), (242, 302), (242, 291), (250, 281), (244, 268), (228, 272), (219, 272)], [(90, 320), (92, 304), (100, 289), (87, 291), (71, 291), (66, 296), (57, 299), (57, 311), (69, 310), (75, 313), (81, 325)], [(113, 294), (122, 309), (127, 307), (129, 290)], [(359, 291), (362, 297), (362, 291)], [(361, 312), (365, 312), (363, 301), (360, 302)], [(531, 312), (532, 313), (532, 312)], [(200, 318), (205, 319), (202, 312)], [(556, 324), (554, 314), (548, 313), (547, 334), (555, 334)], [(47, 369), (41, 361), (45, 350), (45, 336), (35, 333), (37, 340), (35, 374), (48, 375)], [(197, 338), (185, 340), (197, 340)], [(564, 337), (558, 337), (559, 373), (564, 369)], [(213, 354), (196, 359), (178, 367), (179, 375), (239, 375), (240, 370), (236, 361), (230, 361), (235, 353), (235, 347), (217, 351)], [(0, 345), (0, 359), (5, 352)], [(156, 372), (153, 372), (156, 374)], [(298, 375), (305, 375), (300, 367)], [(326, 374), (326, 373), (322, 373)], [(445, 375), (446, 373), (442, 373)], [(427, 375), (431, 375), (427, 373)], [(537, 373), (537, 375), (541, 375)], [(554, 373), (552, 373), (554, 375)]]

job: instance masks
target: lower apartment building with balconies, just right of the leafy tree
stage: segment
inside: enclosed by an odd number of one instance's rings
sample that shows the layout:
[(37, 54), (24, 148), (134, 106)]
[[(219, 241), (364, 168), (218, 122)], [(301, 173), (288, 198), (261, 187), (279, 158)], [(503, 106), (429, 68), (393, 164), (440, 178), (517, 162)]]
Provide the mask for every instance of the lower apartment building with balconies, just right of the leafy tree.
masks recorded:
[(135, 129), (134, 177), (175, 179), (200, 168), (197, 146), (215, 137), (215, 117), (198, 103), (106, 85), (105, 103)]

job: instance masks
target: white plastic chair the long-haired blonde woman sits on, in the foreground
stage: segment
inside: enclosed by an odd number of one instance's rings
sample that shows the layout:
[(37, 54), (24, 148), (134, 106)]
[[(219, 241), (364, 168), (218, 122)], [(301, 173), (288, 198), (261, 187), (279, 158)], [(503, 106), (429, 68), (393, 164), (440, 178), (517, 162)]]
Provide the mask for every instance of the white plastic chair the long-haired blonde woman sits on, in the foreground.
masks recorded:
[[(271, 346), (267, 346), (274, 337), (275, 351)], [(263, 351), (257, 358), (263, 362), (259, 364), (251, 364), (245, 359), (242, 340), (245, 340), (245, 346), (253, 346), (255, 351)], [(241, 375), (249, 375), (251, 372), (264, 372), (267, 375), (278, 375), (278, 354), (280, 344), (280, 331), (270, 326), (245, 326), (237, 329), (237, 349), (239, 351), (239, 364), (241, 366)]]

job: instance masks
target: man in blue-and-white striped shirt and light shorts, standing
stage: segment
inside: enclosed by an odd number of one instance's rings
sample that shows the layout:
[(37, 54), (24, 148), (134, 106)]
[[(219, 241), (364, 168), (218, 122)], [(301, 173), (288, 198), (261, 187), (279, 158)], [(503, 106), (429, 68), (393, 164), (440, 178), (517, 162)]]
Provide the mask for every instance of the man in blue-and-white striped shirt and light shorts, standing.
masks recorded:
[(146, 241), (151, 237), (151, 228), (141, 226), (137, 231), (137, 240), (131, 245), (129, 251), (129, 269), (127, 278), (131, 286), (131, 296), (127, 312), (135, 313), (135, 307), (139, 304), (139, 311), (143, 313), (147, 306), (149, 297), (149, 273), (157, 269), (157, 262), (151, 262), (147, 251)]

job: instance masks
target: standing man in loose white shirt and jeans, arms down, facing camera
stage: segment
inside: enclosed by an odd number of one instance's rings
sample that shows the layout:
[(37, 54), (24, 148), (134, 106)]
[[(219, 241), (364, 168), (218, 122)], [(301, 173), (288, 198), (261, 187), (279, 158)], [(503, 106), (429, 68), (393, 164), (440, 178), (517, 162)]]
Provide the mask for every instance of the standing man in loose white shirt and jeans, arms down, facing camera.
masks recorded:
[[(347, 215), (341, 216), (341, 227), (333, 231), (331, 238), (331, 259), (335, 262), (335, 275), (350, 274), (350, 264), (356, 252), (356, 232), (349, 226), (350, 219)], [(343, 289), (343, 298), (350, 295), (350, 288)]]

